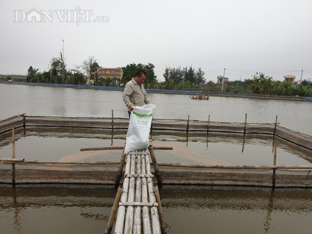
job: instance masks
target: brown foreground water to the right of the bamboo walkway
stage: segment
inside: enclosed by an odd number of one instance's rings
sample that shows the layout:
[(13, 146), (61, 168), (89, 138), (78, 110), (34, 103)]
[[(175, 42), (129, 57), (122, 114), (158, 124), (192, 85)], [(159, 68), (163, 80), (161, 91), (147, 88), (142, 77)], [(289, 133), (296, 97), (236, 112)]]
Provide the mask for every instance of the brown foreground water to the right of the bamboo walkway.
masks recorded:
[[(311, 195), (311, 191), (222, 187), (178, 186), (161, 191), (165, 221), (173, 233), (282, 234), (285, 229), (295, 233), (299, 224), (311, 225)], [(186, 216), (184, 222), (181, 216)], [(292, 221), (285, 223), (285, 216)], [(308, 234), (310, 229), (301, 232)]]

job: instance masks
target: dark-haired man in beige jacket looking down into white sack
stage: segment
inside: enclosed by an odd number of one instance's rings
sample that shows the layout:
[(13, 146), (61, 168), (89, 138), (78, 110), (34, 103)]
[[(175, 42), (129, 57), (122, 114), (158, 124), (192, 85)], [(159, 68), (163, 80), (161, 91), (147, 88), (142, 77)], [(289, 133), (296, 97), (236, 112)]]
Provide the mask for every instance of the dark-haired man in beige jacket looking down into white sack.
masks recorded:
[(137, 71), (137, 74), (131, 81), (129, 81), (123, 91), (123, 101), (128, 107), (129, 117), (134, 106), (143, 106), (144, 104), (151, 104), (148, 94), (144, 89), (144, 81), (146, 73), (143, 70)]

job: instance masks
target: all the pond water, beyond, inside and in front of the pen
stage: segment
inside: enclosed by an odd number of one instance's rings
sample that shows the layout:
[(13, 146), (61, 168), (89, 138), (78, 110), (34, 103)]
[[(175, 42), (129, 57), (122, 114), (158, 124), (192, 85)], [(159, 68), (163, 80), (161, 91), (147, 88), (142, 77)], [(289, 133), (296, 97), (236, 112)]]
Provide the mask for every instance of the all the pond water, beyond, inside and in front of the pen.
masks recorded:
[[(312, 135), (312, 102), (155, 94), (154, 118), (278, 122)], [(127, 117), (122, 92), (0, 84), (0, 119), (27, 115)], [(11, 155), (11, 134), (0, 136), (0, 157)], [(120, 150), (80, 148), (123, 146), (126, 131), (69, 128), (16, 130), (16, 157), (25, 160), (119, 161)], [(157, 162), (272, 165), (273, 138), (266, 135), (154, 132)], [(277, 140), (277, 165), (311, 165), (312, 153)], [(0, 186), (0, 233), (104, 233), (115, 190), (111, 186)], [(168, 234), (311, 234), (312, 190), (271, 191), (243, 187), (164, 186), (160, 191)]]

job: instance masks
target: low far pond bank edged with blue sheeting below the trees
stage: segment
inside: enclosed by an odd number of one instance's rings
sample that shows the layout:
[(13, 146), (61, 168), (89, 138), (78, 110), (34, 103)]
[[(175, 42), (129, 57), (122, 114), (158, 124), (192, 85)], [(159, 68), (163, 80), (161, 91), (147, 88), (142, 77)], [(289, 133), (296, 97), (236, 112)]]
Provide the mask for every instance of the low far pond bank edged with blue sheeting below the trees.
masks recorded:
[[(66, 85), (66, 84), (49, 84), (49, 83), (29, 83), (29, 82), (17, 82), (17, 81), (0, 81), (0, 84), (10, 85), (30, 85), (30, 86), (48, 86), (48, 87), (63, 87), (63, 88), (76, 88), (76, 89), (102, 89), (123, 91), (123, 87), (105, 87), (105, 86), (88, 86), (88, 85)], [(213, 92), (202, 90), (162, 90), (162, 89), (146, 89), (148, 93), (162, 93), (162, 94), (208, 94), (210, 96), (228, 96), (228, 97), (247, 97), (247, 98), (266, 98), (266, 99), (284, 99), (284, 100), (301, 100), (312, 101), (312, 97), (303, 96), (281, 96), (281, 95), (269, 95), (269, 94), (247, 94), (247, 93), (230, 93), (230, 92)]]

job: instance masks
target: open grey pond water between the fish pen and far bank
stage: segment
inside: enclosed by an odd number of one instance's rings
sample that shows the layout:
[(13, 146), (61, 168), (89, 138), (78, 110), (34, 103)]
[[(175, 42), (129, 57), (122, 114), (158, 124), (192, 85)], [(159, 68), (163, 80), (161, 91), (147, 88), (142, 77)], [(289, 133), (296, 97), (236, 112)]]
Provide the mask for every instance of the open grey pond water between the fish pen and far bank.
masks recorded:
[[(211, 96), (194, 100), (186, 94), (149, 93), (156, 119), (190, 119), (273, 123), (312, 135), (312, 101)], [(0, 119), (26, 113), (71, 117), (127, 117), (121, 91), (41, 87), (0, 83)]]

